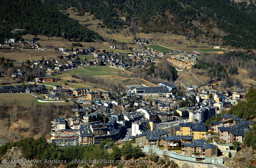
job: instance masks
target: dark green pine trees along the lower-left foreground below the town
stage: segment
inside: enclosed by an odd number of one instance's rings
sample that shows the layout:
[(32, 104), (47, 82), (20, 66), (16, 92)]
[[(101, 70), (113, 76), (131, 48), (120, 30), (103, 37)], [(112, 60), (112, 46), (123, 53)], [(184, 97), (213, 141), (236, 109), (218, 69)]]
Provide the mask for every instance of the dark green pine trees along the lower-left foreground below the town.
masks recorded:
[[(104, 148), (104, 145), (108, 145), (111, 148), (111, 153)], [(72, 163), (72, 160), (80, 159), (80, 160), (99, 160), (99, 159), (106, 159), (106, 160), (121, 160), (121, 157), (124, 157), (125, 160), (134, 158), (138, 159), (139, 157), (143, 157), (144, 154), (141, 152), (140, 148), (132, 147), (131, 143), (126, 143), (119, 148), (114, 141), (110, 141), (110, 138), (106, 139), (104, 142), (96, 145), (86, 145), (86, 146), (70, 146), (65, 148), (58, 148), (55, 142), (50, 144), (47, 143), (44, 137), (40, 137), (39, 139), (35, 140), (33, 138), (25, 138), (17, 142), (6, 143), (0, 147), (0, 156), (2, 157), (6, 154), (8, 149), (12, 147), (18, 147), (22, 150), (23, 157), (25, 159), (36, 159), (41, 160), (42, 164), (38, 164), (39, 168), (43, 167), (53, 167), (59, 166), (60, 163), (50, 165), (44, 163), (45, 159), (47, 160), (65, 160), (67, 164), (65, 167), (68, 168), (75, 168), (77, 165), (84, 167), (89, 167), (92, 163), (84, 164), (84, 163)], [(158, 160), (158, 159), (157, 159)], [(116, 163), (98, 163), (94, 164), (96, 167), (114, 165)]]

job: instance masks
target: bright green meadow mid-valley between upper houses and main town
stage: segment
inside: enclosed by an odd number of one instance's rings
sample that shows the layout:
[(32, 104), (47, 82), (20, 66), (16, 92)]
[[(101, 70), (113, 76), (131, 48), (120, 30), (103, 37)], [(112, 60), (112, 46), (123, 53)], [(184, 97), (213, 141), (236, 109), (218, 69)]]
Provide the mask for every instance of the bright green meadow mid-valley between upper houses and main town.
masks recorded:
[(81, 74), (90, 76), (100, 75), (117, 75), (118, 71), (122, 72), (122, 69), (110, 68), (108, 66), (85, 66), (83, 68), (77, 68), (72, 71), (66, 72), (67, 74)]

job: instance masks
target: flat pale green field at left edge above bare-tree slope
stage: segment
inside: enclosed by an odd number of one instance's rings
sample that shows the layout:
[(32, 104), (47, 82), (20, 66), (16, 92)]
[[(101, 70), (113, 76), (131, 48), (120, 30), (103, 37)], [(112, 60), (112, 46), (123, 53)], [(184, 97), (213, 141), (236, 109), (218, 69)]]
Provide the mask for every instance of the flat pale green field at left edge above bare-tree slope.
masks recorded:
[[(0, 103), (2, 101), (7, 101), (7, 103), (12, 102), (14, 99), (20, 102), (21, 106), (29, 107), (32, 106), (34, 102), (38, 105), (48, 105), (49, 103), (41, 103), (36, 101), (36, 97), (29, 95), (27, 93), (23, 94), (0, 94)], [(65, 104), (72, 104), (71, 101), (68, 102), (56, 102), (53, 103), (55, 105), (65, 105)]]

